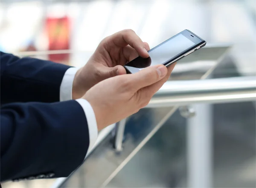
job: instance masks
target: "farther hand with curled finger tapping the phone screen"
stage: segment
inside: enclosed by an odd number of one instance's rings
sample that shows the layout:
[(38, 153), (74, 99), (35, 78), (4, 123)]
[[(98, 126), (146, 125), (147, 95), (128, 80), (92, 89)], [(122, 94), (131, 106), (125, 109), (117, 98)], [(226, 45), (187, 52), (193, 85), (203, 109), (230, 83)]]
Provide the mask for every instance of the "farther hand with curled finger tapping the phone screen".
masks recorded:
[(148, 43), (143, 43), (130, 29), (106, 37), (86, 65), (76, 73), (73, 99), (81, 98), (86, 91), (102, 80), (126, 74), (123, 66), (138, 55), (147, 58), (149, 49)]

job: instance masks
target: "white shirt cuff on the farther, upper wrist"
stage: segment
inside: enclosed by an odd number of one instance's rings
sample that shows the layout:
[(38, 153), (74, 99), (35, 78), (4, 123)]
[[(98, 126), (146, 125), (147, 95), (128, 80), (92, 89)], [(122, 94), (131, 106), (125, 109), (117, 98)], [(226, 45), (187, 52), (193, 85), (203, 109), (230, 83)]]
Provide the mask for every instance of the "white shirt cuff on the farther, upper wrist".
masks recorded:
[(79, 68), (67, 69), (61, 82), (60, 101), (72, 100), (72, 87), (76, 72)]

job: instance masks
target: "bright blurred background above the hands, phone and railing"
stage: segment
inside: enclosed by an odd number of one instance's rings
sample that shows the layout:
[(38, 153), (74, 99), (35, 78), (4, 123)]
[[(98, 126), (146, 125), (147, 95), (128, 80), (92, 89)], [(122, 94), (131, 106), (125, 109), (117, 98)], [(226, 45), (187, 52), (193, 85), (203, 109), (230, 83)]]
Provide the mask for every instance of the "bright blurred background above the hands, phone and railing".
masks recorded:
[(236, 65), (255, 65), (255, 0), (1, 0), (0, 50), (72, 50), (51, 60), (82, 66), (106, 36), (133, 29), (152, 47), (184, 29), (232, 43)]

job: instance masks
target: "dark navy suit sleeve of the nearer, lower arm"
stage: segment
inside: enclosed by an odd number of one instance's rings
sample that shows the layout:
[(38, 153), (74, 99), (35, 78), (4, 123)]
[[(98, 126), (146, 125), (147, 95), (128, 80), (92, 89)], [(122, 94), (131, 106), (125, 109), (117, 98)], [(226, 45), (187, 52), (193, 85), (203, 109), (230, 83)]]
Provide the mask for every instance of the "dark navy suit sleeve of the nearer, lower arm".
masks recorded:
[(0, 114), (1, 181), (67, 177), (83, 162), (89, 133), (77, 101), (12, 103)]

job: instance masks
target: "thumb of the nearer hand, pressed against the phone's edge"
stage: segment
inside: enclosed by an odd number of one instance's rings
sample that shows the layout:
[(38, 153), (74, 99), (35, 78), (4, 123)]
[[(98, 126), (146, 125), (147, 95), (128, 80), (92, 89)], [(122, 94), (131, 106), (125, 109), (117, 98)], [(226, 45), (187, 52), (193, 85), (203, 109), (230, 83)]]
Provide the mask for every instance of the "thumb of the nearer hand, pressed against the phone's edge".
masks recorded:
[(164, 65), (149, 66), (143, 70), (132, 74), (131, 82), (134, 85), (134, 89), (138, 91), (148, 85), (157, 83), (167, 74), (167, 68)]

